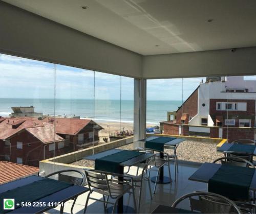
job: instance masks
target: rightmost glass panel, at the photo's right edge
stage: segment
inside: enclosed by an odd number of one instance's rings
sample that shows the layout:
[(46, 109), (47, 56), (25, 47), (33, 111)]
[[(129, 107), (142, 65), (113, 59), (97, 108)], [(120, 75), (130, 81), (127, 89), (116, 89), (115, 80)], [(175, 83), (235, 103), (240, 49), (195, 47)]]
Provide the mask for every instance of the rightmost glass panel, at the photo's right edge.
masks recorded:
[(228, 141), (254, 144), (256, 76), (226, 77), (225, 88)]

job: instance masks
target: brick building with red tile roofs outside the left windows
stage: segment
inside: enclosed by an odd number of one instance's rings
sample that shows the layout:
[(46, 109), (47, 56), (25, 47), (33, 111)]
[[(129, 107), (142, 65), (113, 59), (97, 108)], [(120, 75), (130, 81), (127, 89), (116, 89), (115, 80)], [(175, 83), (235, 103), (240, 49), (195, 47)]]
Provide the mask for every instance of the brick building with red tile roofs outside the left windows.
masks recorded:
[(0, 160), (38, 167), (40, 160), (98, 144), (98, 131), (102, 127), (93, 121), (55, 120), (0, 118)]

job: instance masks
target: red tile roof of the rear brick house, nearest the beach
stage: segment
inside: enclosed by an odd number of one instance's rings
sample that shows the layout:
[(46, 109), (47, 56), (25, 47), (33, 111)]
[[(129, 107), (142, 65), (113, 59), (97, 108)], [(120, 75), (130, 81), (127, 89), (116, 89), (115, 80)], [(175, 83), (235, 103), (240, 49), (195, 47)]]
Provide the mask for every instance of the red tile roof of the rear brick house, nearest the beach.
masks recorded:
[[(55, 118), (55, 132), (58, 134), (76, 135), (81, 129), (86, 127), (92, 120), (82, 120), (76, 118)], [(46, 117), (44, 122), (54, 124), (53, 117)]]

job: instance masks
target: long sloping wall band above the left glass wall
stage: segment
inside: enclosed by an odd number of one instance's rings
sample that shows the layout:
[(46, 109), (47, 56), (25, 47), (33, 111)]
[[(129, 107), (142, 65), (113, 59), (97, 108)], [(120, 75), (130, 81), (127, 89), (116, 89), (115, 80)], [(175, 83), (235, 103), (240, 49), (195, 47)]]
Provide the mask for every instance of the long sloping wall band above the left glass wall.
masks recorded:
[(0, 52), (124, 76), (142, 56), (0, 1)]

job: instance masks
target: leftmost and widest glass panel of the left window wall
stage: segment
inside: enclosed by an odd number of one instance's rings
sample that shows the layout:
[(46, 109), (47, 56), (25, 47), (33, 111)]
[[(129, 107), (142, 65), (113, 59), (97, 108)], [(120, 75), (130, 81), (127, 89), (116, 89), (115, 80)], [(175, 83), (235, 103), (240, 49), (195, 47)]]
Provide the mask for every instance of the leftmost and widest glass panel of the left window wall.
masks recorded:
[(53, 157), (54, 64), (0, 54), (0, 69), (0, 158), (39, 167)]

